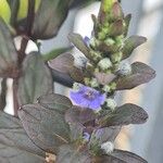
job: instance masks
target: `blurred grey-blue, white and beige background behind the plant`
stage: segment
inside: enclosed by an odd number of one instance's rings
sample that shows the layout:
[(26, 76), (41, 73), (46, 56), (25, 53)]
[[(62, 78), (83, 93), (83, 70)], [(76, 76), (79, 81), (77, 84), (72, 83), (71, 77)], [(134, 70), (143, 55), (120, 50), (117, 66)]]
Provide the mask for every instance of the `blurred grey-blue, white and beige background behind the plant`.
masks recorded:
[[(84, 8), (72, 8), (58, 37), (43, 41), (41, 51), (70, 45), (67, 35), (79, 33), (83, 37), (91, 35), (90, 14), (98, 14), (100, 2)], [(149, 121), (143, 125), (127, 126), (116, 139), (116, 146), (143, 156), (149, 163), (163, 163), (163, 0), (122, 0), (125, 14), (131, 13), (129, 35), (142, 35), (148, 42), (140, 46), (130, 58), (130, 62), (141, 61), (156, 71), (156, 78), (129, 91), (118, 95), (120, 104), (131, 102), (142, 106), (149, 113)], [(30, 42), (28, 49), (36, 49)], [(80, 52), (76, 49), (75, 54)], [(11, 82), (9, 80), (9, 86)], [(55, 84), (55, 90), (66, 93), (65, 88)], [(8, 109), (11, 98), (8, 96)], [(12, 113), (11, 110), (7, 110)]]

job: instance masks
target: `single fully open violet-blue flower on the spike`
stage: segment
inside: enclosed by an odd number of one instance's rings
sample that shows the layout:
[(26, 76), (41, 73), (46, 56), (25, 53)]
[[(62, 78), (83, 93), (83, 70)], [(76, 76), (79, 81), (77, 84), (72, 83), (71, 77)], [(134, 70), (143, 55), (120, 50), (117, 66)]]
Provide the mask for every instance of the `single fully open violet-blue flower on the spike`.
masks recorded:
[(72, 90), (70, 98), (75, 104), (91, 110), (98, 110), (105, 101), (105, 95), (84, 85), (77, 91)]

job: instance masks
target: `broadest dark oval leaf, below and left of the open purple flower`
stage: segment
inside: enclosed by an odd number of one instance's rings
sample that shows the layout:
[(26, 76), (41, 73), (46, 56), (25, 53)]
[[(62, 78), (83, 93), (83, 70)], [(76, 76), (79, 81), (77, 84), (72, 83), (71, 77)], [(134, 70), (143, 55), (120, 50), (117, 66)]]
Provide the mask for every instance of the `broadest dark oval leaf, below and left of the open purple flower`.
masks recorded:
[(70, 141), (70, 126), (58, 110), (27, 104), (21, 108), (18, 116), (29, 138), (46, 152), (57, 153), (60, 146)]

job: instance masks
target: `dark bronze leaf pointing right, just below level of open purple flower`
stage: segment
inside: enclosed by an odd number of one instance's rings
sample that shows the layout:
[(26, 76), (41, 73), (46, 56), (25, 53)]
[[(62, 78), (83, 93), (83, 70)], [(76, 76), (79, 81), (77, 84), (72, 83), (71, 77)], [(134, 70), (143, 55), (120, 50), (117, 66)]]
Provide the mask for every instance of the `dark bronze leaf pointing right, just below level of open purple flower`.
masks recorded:
[(126, 103), (117, 108), (112, 114), (105, 115), (99, 120), (102, 127), (123, 126), (129, 124), (143, 124), (148, 120), (147, 112), (140, 106)]

